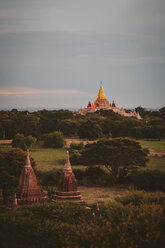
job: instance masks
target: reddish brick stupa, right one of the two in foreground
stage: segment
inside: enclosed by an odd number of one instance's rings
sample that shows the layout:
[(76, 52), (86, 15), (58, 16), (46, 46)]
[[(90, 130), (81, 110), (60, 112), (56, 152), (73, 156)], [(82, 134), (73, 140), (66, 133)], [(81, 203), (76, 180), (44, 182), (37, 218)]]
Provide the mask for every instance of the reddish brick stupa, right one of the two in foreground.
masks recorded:
[(74, 173), (72, 172), (68, 151), (66, 152), (64, 169), (60, 176), (58, 191), (55, 192), (54, 199), (77, 200), (82, 202), (81, 194), (77, 191), (77, 181)]

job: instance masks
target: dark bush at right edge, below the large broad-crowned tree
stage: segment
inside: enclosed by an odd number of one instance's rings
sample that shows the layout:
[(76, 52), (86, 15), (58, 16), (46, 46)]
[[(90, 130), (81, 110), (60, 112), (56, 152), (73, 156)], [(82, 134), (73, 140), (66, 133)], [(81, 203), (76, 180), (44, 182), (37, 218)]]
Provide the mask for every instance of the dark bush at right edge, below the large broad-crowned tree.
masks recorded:
[(138, 189), (165, 191), (165, 172), (159, 170), (133, 171), (125, 178), (127, 185), (134, 184)]

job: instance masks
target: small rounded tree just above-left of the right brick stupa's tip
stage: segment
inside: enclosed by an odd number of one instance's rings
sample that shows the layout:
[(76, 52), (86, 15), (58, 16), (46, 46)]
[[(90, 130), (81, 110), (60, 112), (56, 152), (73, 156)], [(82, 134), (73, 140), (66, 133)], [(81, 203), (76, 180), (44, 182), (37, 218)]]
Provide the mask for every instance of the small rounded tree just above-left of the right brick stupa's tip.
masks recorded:
[(61, 132), (56, 131), (44, 136), (44, 145), (46, 147), (61, 148), (65, 143), (65, 137)]

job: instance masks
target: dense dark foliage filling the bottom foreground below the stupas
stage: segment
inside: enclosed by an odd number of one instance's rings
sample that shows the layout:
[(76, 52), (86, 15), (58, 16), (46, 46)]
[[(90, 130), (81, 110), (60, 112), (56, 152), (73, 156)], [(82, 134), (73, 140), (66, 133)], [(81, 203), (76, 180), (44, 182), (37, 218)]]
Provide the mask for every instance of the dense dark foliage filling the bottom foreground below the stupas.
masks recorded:
[(161, 201), (99, 205), (99, 212), (76, 203), (58, 202), (0, 214), (1, 248), (165, 246), (165, 209)]

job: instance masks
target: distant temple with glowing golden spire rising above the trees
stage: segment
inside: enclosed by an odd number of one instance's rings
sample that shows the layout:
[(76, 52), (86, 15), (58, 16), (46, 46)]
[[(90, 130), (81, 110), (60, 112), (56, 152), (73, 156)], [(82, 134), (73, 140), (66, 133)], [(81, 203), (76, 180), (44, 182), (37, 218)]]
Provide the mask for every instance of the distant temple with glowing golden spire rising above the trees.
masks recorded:
[(88, 102), (88, 105), (84, 107), (84, 109), (80, 109), (78, 111), (79, 114), (85, 115), (87, 113), (93, 113), (96, 112), (97, 110), (104, 109), (104, 110), (113, 110), (115, 113), (118, 113), (119, 115), (125, 116), (125, 117), (135, 117), (137, 119), (141, 119), (139, 113), (136, 111), (126, 113), (126, 111), (121, 108), (119, 109), (115, 101), (113, 100), (112, 104), (109, 103), (109, 101), (106, 99), (105, 92), (103, 89), (103, 83), (101, 81), (100, 83), (100, 90), (97, 96), (97, 99), (94, 101), (92, 104), (90, 101)]

